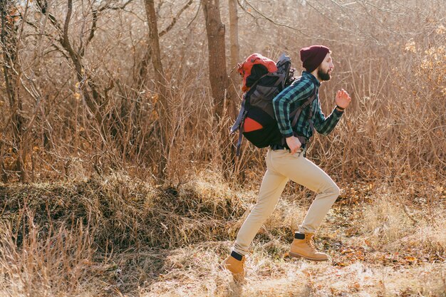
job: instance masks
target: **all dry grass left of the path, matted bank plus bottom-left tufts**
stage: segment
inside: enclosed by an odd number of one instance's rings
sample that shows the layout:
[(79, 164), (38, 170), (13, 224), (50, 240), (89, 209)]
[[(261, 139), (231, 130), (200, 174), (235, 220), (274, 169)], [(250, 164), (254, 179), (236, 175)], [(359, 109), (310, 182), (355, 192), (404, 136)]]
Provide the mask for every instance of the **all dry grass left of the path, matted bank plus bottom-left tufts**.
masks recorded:
[[(246, 210), (242, 193), (216, 178), (208, 173), (181, 188), (123, 175), (0, 187), (2, 292), (98, 296), (136, 290), (133, 276), (152, 281), (154, 271), (169, 269), (168, 259), (154, 264), (168, 249), (234, 234), (232, 222)], [(135, 263), (145, 269), (133, 271)]]

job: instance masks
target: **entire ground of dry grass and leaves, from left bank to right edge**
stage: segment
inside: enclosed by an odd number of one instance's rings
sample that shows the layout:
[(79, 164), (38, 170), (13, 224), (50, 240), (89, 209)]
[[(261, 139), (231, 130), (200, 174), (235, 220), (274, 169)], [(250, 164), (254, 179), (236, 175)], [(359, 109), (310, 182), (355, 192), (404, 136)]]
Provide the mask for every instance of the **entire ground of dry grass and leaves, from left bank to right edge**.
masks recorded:
[[(322, 263), (287, 256), (311, 195), (284, 193), (254, 239), (244, 283), (234, 283), (221, 264), (254, 206), (255, 189), (232, 189), (212, 177), (178, 192), (124, 184), (120, 178), (0, 184), (0, 295), (446, 296), (446, 190), (438, 184), (430, 192), (435, 199), (415, 190), (410, 200), (384, 183), (341, 185), (316, 237), (331, 257)], [(83, 200), (89, 190), (115, 197), (115, 205), (104, 210), (105, 200)], [(125, 201), (140, 212), (120, 214)], [(73, 224), (74, 216), (85, 223)], [(23, 223), (26, 217), (36, 226)], [(27, 235), (18, 235), (18, 222)], [(118, 241), (125, 234), (131, 244)], [(113, 249), (104, 248), (109, 241)]]

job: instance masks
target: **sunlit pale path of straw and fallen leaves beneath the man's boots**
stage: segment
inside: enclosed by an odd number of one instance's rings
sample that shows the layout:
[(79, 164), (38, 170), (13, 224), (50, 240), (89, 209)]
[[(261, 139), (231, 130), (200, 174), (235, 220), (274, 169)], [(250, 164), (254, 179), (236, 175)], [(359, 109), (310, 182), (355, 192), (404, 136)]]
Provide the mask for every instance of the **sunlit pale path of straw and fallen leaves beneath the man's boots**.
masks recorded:
[[(437, 222), (420, 223), (422, 207), (349, 202), (337, 202), (316, 239), (330, 261), (290, 259), (292, 234), (271, 234), (280, 224), (271, 220), (247, 257), (244, 283), (221, 266), (232, 241), (208, 241), (166, 251), (165, 269), (142, 296), (446, 296), (445, 204)], [(278, 208), (274, 220), (287, 219), (289, 204)]]

